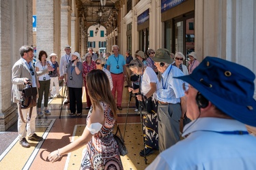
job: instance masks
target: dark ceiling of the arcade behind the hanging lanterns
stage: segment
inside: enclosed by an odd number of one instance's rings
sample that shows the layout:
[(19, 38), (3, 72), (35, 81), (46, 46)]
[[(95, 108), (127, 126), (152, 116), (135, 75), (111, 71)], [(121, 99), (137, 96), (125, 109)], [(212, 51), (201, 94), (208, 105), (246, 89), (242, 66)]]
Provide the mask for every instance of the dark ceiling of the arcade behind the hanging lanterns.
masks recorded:
[[(107, 25), (110, 18), (117, 14), (115, 3), (111, 0), (106, 1), (106, 5), (102, 7), (100, 0), (78, 0), (79, 16), (85, 18), (86, 25), (96, 24), (100, 20), (100, 24)], [(102, 10), (102, 16), (98, 16), (99, 9)]]

